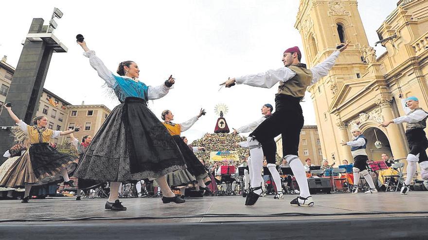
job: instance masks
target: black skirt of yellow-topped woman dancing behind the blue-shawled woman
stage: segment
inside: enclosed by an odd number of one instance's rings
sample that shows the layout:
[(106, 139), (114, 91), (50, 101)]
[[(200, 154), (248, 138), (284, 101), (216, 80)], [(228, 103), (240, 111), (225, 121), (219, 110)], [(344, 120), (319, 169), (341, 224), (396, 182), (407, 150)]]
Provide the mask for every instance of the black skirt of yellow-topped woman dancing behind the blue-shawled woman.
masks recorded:
[[(183, 154), (184, 161), (187, 165), (187, 170), (195, 176), (196, 180), (203, 179), (208, 176), (208, 172), (205, 169), (204, 164), (202, 164), (193, 151), (187, 146), (184, 141), (181, 139), (180, 136), (174, 135), (172, 136), (174, 138), (174, 141), (178, 145), (178, 148), (180, 149), (181, 153)], [(173, 173), (174, 174), (174, 173)]]

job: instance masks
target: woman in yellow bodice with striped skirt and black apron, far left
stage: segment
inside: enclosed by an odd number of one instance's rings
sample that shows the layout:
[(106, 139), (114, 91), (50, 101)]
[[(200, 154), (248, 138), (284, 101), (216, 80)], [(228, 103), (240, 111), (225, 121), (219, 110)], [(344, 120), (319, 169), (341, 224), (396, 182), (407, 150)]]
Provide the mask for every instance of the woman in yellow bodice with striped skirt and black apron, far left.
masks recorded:
[(68, 131), (54, 131), (46, 128), (48, 119), (45, 116), (37, 116), (29, 126), (20, 120), (11, 107), (4, 107), (16, 124), (28, 136), (31, 144), (29, 151), (18, 159), (1, 179), (0, 186), (21, 187), (25, 186), (25, 195), (22, 203), (28, 203), (32, 185), (47, 184), (64, 178), (64, 184), (73, 186), (68, 173), (73, 171), (77, 164), (75, 157), (60, 153), (49, 145), (51, 138), (68, 135), (78, 131), (80, 127)]

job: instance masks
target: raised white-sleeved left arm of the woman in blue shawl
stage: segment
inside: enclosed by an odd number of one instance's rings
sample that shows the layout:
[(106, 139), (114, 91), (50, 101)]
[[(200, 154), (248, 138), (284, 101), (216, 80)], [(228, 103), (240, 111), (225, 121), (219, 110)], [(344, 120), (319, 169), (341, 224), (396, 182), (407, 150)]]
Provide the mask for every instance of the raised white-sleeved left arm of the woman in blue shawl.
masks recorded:
[(103, 61), (95, 55), (95, 51), (89, 50), (85, 41), (77, 43), (85, 50), (83, 55), (89, 58), (89, 64), (97, 71), (98, 76), (106, 81), (108, 87), (115, 88), (117, 83), (113, 73), (108, 70)]

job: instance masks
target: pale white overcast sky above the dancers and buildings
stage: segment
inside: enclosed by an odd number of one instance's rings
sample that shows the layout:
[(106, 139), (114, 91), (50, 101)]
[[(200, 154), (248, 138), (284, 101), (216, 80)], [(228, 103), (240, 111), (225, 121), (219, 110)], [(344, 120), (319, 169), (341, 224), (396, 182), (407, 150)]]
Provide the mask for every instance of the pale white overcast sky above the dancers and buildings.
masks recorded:
[[(378, 41), (375, 30), (396, 2), (358, 1), (372, 46)], [(285, 48), (303, 49), (301, 36), (294, 29), (298, 6), (298, 0), (4, 1), (0, 56), (7, 55), (7, 63), (15, 67), (32, 19), (41, 17), (47, 24), (57, 7), (64, 16), (56, 19), (54, 34), (69, 51), (54, 53), (44, 87), (75, 105), (83, 100), (110, 109), (117, 105), (106, 96), (103, 80), (75, 43), (75, 35), (81, 33), (88, 47), (113, 72), (120, 62), (132, 60), (147, 85), (160, 85), (172, 74), (175, 88), (150, 102), (150, 108), (157, 116), (171, 110), (176, 123), (205, 108), (207, 114), (182, 134), (191, 142), (214, 131), (218, 118), (214, 106), (218, 103), (229, 107), (225, 115), (229, 128), (259, 118), (265, 103), (274, 106), (276, 85), (271, 89), (238, 85), (218, 92), (218, 84), (228, 77), (279, 68)], [(384, 51), (379, 45), (375, 49), (378, 56)], [(315, 125), (308, 93), (306, 99), (302, 104), (305, 125)]]

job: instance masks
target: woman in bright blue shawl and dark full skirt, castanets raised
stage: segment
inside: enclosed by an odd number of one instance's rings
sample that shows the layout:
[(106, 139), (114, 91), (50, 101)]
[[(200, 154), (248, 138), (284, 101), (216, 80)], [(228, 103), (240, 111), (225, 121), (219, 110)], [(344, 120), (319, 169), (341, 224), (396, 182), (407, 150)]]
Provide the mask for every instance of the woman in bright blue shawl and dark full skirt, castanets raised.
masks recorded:
[(119, 64), (114, 75), (89, 50), (85, 41), (77, 42), (98, 72), (121, 102), (107, 117), (79, 162), (75, 176), (84, 179), (110, 181), (110, 196), (106, 209), (126, 210), (119, 202), (120, 182), (156, 178), (163, 192), (163, 203), (184, 203), (168, 187), (165, 175), (185, 168), (183, 156), (165, 127), (147, 108), (149, 99), (165, 96), (174, 84), (169, 77), (164, 84), (151, 87), (138, 81), (140, 69), (133, 61)]

